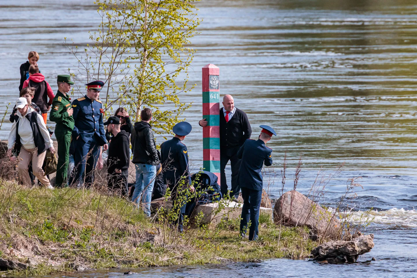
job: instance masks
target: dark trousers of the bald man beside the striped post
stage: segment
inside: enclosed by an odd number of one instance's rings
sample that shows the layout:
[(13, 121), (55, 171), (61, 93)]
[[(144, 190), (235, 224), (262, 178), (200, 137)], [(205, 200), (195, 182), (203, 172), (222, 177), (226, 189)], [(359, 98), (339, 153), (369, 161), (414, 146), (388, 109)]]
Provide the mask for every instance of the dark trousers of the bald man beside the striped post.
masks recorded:
[(231, 193), (230, 197), (237, 198), (239, 197), (240, 192), (240, 185), (239, 185), (239, 167), (240, 167), (240, 159), (237, 158), (237, 152), (239, 151), (239, 147), (234, 148), (220, 148), (220, 192), (221, 195), (226, 196), (228, 186), (226, 182), (226, 172), (224, 169), (226, 168), (227, 162), (230, 160), (230, 167), (232, 170), (232, 178), (231, 178)]

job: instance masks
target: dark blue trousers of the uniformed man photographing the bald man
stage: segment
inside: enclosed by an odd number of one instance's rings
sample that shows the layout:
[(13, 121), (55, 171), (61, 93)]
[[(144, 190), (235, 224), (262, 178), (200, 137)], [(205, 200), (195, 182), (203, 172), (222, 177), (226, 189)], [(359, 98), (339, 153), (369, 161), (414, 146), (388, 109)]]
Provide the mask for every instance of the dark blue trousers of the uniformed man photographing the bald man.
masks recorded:
[(249, 220), (251, 220), (251, 227), (249, 227), (249, 240), (258, 239), (259, 226), (259, 207), (261, 207), (262, 190), (252, 190), (242, 187), (242, 216), (240, 220), (240, 232), (246, 234)]

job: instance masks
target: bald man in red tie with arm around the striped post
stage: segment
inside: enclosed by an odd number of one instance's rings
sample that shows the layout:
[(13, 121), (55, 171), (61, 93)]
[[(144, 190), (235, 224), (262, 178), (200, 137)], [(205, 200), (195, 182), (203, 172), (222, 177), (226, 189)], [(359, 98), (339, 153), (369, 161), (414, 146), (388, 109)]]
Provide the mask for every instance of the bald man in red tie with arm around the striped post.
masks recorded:
[[(252, 129), (246, 113), (234, 106), (234, 99), (231, 95), (223, 97), (223, 106), (220, 109), (220, 191), (223, 197), (226, 196), (228, 186), (224, 169), (230, 160), (232, 170), (231, 192), (232, 200), (237, 201), (239, 197), (239, 167), (240, 159), (237, 153), (246, 139), (251, 138)], [(207, 126), (206, 119), (198, 122), (200, 126)]]

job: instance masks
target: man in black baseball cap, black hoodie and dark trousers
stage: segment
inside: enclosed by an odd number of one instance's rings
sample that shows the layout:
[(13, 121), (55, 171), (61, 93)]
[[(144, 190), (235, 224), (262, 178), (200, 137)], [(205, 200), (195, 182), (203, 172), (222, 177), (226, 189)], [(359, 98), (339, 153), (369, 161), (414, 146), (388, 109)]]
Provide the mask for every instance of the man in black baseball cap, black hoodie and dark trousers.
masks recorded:
[(120, 130), (120, 119), (116, 116), (109, 117), (104, 125), (107, 125), (108, 132), (113, 134), (107, 157), (108, 188), (126, 196), (130, 160), (129, 133)]

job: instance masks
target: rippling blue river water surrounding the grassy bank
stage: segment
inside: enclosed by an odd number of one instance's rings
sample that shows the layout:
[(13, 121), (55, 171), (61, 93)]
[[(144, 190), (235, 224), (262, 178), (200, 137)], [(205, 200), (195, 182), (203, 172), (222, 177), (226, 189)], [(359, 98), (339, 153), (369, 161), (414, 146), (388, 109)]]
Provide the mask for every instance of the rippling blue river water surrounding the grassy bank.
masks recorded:
[[(75, 61), (63, 38), (88, 42), (98, 25), (91, 0), (0, 1), (0, 114), (18, 95), (19, 66), (29, 51), (52, 88)], [(253, 129), (273, 126), (276, 178), (269, 187), (279, 196), (280, 169), (287, 153), (287, 183), (301, 157), (297, 190), (307, 193), (324, 167), (345, 163), (326, 188), (322, 203), (334, 207), (347, 179), (362, 177), (355, 195), (343, 202), (356, 215), (371, 209), (374, 249), (360, 257), (377, 261), (319, 265), (308, 261), (265, 260), (135, 270), (135, 277), (417, 277), (417, 3), (412, 0), (203, 0), (204, 21), (193, 38), (198, 52), (190, 83), (181, 95), (193, 101), (184, 116), (193, 132), (184, 141), (196, 167), (202, 164), (201, 67), (220, 68), (221, 95), (232, 94)], [(0, 139), (7, 139), (5, 122)], [(158, 142), (162, 142), (158, 138)], [(274, 174), (269, 173), (268, 179)], [(77, 277), (120, 277), (120, 272)], [(72, 276), (70, 276), (72, 277)]]

